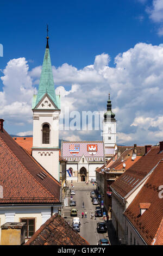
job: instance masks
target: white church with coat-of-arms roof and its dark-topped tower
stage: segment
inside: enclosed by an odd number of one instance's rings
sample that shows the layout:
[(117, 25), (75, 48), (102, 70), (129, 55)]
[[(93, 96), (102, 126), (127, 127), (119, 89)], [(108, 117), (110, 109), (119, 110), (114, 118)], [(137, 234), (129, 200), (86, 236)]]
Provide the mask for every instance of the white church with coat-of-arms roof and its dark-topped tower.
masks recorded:
[(103, 141), (62, 141), (61, 156), (66, 159), (66, 180), (91, 181), (96, 179), (96, 169), (115, 155), (116, 120), (111, 110), (111, 100), (103, 120)]

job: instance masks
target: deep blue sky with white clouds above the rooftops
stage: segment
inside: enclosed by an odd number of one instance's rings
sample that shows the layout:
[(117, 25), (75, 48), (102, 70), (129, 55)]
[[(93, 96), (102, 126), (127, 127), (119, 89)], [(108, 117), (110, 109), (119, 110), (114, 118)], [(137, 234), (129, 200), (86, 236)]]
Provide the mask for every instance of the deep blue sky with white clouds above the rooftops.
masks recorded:
[[(61, 111), (104, 111), (108, 93), (117, 143), (163, 140), (163, 0), (1, 1), (0, 117), (10, 134), (32, 135), (46, 25)], [(101, 131), (60, 131), (70, 140)]]

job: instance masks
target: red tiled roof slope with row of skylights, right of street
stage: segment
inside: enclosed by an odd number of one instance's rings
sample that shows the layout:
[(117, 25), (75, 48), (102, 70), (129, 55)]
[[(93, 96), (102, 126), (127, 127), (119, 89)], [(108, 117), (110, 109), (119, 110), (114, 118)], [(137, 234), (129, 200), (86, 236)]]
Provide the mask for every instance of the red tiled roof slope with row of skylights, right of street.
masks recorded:
[(152, 148), (148, 154), (135, 162), (110, 187), (120, 196), (125, 197), (163, 159), (163, 153), (159, 153), (159, 150), (159, 147)]

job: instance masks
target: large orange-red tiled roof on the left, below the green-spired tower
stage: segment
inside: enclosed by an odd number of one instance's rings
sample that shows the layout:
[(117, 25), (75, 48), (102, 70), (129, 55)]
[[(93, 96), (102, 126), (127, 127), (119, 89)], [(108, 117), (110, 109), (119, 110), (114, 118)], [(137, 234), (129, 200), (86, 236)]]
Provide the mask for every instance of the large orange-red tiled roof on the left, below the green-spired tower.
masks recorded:
[(60, 183), (4, 130), (0, 131), (0, 203), (59, 203)]

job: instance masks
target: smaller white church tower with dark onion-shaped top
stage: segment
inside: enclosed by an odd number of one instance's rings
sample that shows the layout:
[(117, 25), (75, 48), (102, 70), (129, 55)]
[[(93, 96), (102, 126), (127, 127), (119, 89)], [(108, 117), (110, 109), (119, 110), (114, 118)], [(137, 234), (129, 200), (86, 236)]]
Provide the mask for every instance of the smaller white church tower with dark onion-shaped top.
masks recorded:
[(115, 150), (117, 150), (116, 119), (115, 119), (115, 114), (112, 113), (111, 111), (110, 93), (109, 93), (109, 100), (107, 104), (107, 111), (104, 114), (103, 142), (104, 142), (105, 158), (109, 159), (111, 156), (115, 154)]

